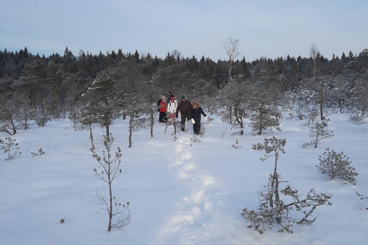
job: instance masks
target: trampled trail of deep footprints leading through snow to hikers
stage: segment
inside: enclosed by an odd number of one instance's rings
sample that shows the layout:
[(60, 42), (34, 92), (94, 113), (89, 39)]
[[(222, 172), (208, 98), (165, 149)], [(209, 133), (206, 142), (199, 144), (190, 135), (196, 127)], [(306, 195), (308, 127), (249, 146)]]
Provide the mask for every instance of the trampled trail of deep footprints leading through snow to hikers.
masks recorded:
[(175, 203), (173, 216), (159, 232), (156, 244), (204, 244), (211, 239), (208, 231), (213, 210), (221, 203), (221, 188), (214, 177), (198, 166), (191, 149), (191, 136), (180, 136), (177, 147), (167, 159), (171, 174), (190, 188), (189, 194)]

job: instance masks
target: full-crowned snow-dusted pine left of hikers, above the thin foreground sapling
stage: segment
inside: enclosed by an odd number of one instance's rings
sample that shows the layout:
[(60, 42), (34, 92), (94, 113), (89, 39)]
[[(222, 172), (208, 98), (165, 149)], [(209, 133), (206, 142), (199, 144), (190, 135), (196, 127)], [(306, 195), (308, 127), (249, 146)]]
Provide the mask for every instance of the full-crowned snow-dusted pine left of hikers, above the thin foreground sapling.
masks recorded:
[(114, 89), (114, 82), (111, 76), (103, 73), (97, 76), (87, 91), (82, 94), (84, 98), (82, 114), (85, 115), (85, 121), (89, 125), (98, 123), (106, 127), (107, 137), (110, 134), (110, 123), (120, 115), (118, 105), (122, 96)]

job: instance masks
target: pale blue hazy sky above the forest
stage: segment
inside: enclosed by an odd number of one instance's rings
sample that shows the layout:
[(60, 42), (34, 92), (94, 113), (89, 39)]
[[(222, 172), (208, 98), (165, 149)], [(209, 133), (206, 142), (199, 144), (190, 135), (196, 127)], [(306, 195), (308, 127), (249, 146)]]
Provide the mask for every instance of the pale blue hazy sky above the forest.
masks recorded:
[[(220, 40), (241, 40), (248, 61), (262, 55), (326, 57), (368, 48), (368, 1), (0, 0), (0, 49), (63, 54), (80, 49), (225, 58)], [(238, 57), (241, 58), (241, 57)]]

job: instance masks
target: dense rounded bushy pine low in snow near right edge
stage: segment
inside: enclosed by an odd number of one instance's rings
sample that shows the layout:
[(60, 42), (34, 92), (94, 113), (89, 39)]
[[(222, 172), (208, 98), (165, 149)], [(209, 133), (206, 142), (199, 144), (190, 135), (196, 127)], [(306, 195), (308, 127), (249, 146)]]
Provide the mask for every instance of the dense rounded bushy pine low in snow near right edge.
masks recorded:
[(327, 148), (323, 155), (319, 156), (318, 160), (320, 163), (316, 167), (319, 173), (331, 177), (331, 180), (337, 177), (347, 180), (354, 185), (357, 184), (354, 176), (357, 176), (358, 172), (355, 171), (354, 167), (350, 166), (351, 161), (349, 161), (348, 156), (344, 155), (344, 152), (337, 153)]

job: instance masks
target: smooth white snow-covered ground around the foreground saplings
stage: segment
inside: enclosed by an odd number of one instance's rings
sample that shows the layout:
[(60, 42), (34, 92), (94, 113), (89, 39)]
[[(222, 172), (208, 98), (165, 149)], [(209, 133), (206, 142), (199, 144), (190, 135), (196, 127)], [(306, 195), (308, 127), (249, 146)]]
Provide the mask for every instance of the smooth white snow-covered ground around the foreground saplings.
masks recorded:
[[(315, 223), (294, 226), (293, 234), (276, 228), (255, 234), (240, 215), (243, 207), (258, 206), (257, 191), (273, 171), (272, 159), (261, 162), (263, 152), (251, 149), (269, 136), (251, 136), (249, 128), (244, 136), (231, 136), (235, 129), (215, 117), (202, 142), (194, 143), (192, 129), (178, 132), (174, 141), (172, 129), (164, 135), (156, 123), (153, 138), (149, 129), (134, 132), (128, 149), (128, 120), (115, 120), (110, 132), (114, 147), (122, 148), (123, 174), (113, 183), (113, 195), (130, 202), (132, 216), (128, 227), (110, 233), (96, 198), (103, 181), (93, 174), (89, 132), (74, 131), (68, 120), (20, 130), (12, 138), (22, 154), (11, 161), (0, 154), (0, 244), (367, 244), (368, 203), (355, 192), (368, 195), (368, 127), (349, 124), (347, 116), (329, 116), (335, 136), (317, 149), (301, 148), (309, 133), (304, 120), (282, 120), (283, 130), (270, 135), (286, 138), (278, 172), (292, 187), (333, 194), (333, 205), (319, 206)], [(93, 133), (100, 153), (103, 129)], [(240, 149), (231, 147), (235, 140)], [(32, 157), (40, 147), (45, 155)], [(318, 173), (318, 156), (327, 147), (350, 157), (357, 185)]]

